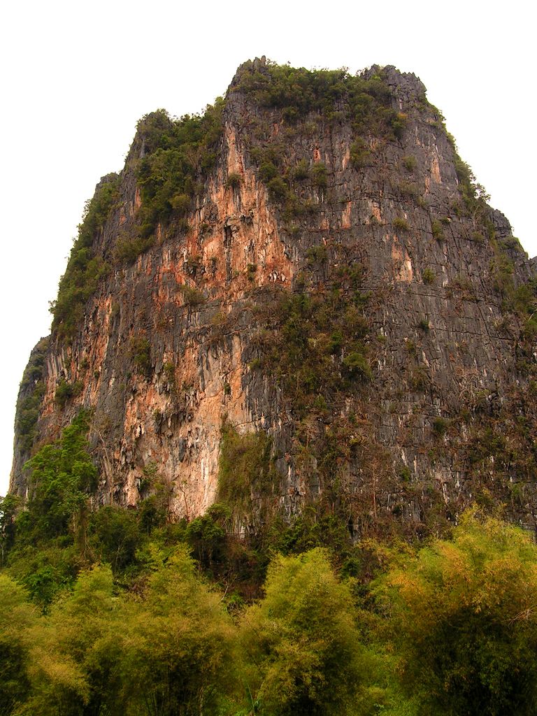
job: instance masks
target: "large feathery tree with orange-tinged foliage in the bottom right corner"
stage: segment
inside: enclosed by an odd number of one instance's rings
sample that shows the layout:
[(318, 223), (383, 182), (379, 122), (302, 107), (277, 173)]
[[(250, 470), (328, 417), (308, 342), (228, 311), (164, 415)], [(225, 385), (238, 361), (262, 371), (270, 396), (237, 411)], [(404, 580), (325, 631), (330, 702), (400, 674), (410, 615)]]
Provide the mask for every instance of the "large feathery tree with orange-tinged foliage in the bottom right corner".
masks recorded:
[(377, 596), (402, 687), (422, 715), (537, 710), (537, 548), (500, 521), (463, 516), (453, 539), (392, 553)]

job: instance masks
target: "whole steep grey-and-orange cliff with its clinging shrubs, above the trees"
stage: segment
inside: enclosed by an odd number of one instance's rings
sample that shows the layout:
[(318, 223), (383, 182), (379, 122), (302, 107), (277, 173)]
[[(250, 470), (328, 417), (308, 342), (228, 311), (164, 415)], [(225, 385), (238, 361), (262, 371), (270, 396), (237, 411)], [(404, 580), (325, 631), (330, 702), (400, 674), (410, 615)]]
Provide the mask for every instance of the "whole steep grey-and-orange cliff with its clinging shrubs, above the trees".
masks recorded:
[(87, 283), (69, 274), (63, 314), (60, 286), (26, 369), (11, 490), (84, 407), (98, 503), (137, 503), (158, 473), (176, 516), (202, 513), (226, 489), (228, 426), (237, 465), (238, 436), (271, 438), (243, 525), (263, 499), (322, 501), (359, 530), (473, 500), (533, 524), (530, 262), (419, 79), (293, 72), (243, 65), (209, 138), (140, 122), (89, 208)]

